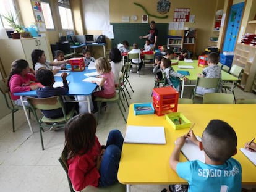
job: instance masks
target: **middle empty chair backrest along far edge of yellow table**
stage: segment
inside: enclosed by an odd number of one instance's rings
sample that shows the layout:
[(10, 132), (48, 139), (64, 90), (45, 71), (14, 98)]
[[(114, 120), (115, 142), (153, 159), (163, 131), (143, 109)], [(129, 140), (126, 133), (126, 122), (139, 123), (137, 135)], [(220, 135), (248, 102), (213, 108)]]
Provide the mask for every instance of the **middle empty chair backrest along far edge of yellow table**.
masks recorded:
[(233, 104), (234, 95), (229, 93), (205, 93), (203, 95), (203, 103)]

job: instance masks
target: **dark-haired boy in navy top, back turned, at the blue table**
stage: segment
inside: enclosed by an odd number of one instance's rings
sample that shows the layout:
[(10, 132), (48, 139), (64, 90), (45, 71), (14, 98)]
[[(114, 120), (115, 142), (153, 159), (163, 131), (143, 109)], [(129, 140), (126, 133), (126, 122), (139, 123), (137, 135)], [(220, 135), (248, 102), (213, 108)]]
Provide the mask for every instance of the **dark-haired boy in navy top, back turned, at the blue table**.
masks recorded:
[[(48, 98), (51, 96), (64, 96), (69, 92), (69, 85), (67, 84), (67, 73), (62, 73), (62, 87), (53, 87), (55, 82), (53, 73), (49, 69), (40, 69), (36, 72), (36, 79), (44, 86), (43, 88), (38, 88), (36, 90), (36, 94), (38, 98)], [(75, 111), (79, 114), (79, 106), (78, 102), (64, 102), (64, 107), (66, 110), (66, 114), (68, 114), (73, 107), (75, 107)], [(42, 110), (45, 117), (48, 118), (58, 118), (63, 117), (62, 109), (53, 109), (53, 110)]]

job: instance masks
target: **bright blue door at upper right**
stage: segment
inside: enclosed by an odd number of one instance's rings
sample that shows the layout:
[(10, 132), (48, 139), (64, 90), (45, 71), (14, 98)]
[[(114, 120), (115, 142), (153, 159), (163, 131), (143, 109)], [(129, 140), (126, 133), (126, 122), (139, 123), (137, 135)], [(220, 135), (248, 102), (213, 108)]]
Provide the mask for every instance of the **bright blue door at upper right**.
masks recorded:
[(233, 52), (236, 46), (237, 35), (241, 25), (244, 2), (231, 6), (228, 19), (228, 28), (224, 38), (223, 51)]

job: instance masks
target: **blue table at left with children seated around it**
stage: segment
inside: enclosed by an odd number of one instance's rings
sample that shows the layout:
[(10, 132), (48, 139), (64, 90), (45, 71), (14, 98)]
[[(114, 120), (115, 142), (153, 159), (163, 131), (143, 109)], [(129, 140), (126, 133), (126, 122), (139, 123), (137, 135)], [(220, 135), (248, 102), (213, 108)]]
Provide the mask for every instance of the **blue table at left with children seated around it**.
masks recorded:
[[(85, 73), (91, 73), (95, 72), (95, 70), (84, 70), (82, 72), (68, 72), (69, 75), (67, 75), (67, 81), (69, 81), (69, 93), (68, 95), (73, 95), (73, 96), (87, 96), (87, 102), (88, 102), (88, 111), (90, 112), (90, 95), (93, 93), (93, 91), (96, 88), (96, 83), (89, 83), (89, 82), (84, 82), (82, 81), (83, 79), (87, 78), (84, 74)], [(55, 81), (62, 81), (61, 77), (54, 77)], [(14, 95), (20, 96), (20, 98), (23, 101), (23, 97), (25, 96), (36, 96), (36, 90), (32, 91), (27, 91), (27, 92), (22, 92), (22, 93), (14, 93)], [(84, 100), (82, 100), (84, 101)], [(27, 110), (25, 110), (25, 106), (22, 102), (23, 109), (25, 112), (25, 116), (27, 118), (28, 126), (30, 128), (30, 131), (33, 133), (32, 126), (30, 124), (30, 120), (28, 118)]]

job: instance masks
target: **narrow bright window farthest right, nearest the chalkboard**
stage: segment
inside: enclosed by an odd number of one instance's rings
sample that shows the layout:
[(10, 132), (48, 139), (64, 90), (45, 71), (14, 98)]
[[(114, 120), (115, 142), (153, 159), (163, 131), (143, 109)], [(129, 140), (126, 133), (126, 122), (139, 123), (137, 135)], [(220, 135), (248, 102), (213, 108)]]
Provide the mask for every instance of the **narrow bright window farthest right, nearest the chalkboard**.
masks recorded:
[(74, 29), (69, 0), (58, 0), (62, 29)]

